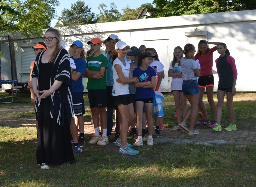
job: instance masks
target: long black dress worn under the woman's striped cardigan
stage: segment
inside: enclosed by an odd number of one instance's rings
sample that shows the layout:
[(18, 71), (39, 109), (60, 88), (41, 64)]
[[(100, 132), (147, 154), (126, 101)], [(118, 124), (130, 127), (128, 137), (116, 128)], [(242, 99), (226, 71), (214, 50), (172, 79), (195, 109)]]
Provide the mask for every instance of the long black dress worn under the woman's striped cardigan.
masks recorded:
[[(39, 60), (38, 90), (50, 88), (50, 77), (53, 63), (42, 63)], [(56, 119), (50, 116), (50, 100), (48, 96), (41, 99), (38, 107), (38, 132), (37, 132), (37, 163), (46, 165), (61, 165), (64, 162), (74, 163), (72, 144), (70, 141), (70, 124), (68, 120), (60, 126)]]

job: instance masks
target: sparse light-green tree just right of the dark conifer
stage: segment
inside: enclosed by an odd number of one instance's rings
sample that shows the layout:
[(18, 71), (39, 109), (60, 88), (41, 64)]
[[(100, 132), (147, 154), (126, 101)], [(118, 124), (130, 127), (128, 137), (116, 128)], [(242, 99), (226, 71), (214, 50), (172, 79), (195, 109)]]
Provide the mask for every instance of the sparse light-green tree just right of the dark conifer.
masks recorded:
[(107, 5), (104, 3), (99, 4), (98, 9), (100, 14), (97, 14), (97, 23), (117, 22), (121, 16), (113, 2), (110, 4), (110, 10), (107, 10)]

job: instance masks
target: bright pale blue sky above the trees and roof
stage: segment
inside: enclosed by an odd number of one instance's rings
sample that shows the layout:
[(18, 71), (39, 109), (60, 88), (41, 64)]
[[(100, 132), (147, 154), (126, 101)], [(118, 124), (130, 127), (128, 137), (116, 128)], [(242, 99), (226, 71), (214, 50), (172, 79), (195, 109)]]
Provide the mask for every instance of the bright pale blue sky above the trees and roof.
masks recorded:
[[(115, 5), (117, 6), (117, 10), (120, 13), (123, 13), (123, 11), (121, 9), (123, 9), (124, 7), (126, 7), (127, 5), (130, 8), (137, 8), (140, 7), (141, 4), (143, 3), (153, 3), (153, 0), (129, 0), (129, 1), (123, 1), (123, 0), (118, 0), (118, 1), (114, 1), (114, 0), (83, 0), (85, 2), (85, 5), (89, 5), (89, 7), (92, 7), (91, 12), (94, 12), (95, 14), (99, 14), (99, 4), (106, 4), (107, 5), (107, 10), (110, 9), (110, 3), (114, 2)], [(58, 17), (61, 16), (61, 11), (66, 8), (66, 9), (70, 9), (71, 8), (71, 4), (75, 4), (75, 1), (73, 0), (59, 0), (59, 6), (56, 7), (56, 19), (53, 19), (51, 22), (51, 27), (54, 27), (54, 25), (56, 25), (56, 23), (58, 22)]]

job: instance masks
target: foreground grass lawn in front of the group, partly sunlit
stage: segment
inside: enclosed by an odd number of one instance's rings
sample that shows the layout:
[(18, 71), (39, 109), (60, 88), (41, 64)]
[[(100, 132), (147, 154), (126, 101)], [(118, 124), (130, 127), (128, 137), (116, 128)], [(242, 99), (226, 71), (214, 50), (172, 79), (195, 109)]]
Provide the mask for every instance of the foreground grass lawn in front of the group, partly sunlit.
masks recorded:
[[(86, 142), (90, 138), (86, 136)], [(119, 154), (113, 143), (86, 144), (75, 164), (42, 170), (36, 164), (35, 144), (35, 130), (0, 128), (1, 187), (252, 187), (256, 180), (255, 145), (155, 143), (128, 156)]]

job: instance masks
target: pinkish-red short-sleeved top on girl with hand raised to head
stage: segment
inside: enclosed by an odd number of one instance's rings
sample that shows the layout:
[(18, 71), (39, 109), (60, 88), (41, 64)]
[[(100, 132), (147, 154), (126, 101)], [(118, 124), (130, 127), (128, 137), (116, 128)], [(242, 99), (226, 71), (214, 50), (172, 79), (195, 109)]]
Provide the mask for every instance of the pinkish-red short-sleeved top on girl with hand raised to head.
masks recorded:
[(199, 53), (195, 55), (195, 60), (199, 60), (201, 70), (200, 74), (201, 76), (205, 75), (213, 75), (212, 73), (212, 65), (213, 65), (213, 52), (217, 50), (217, 45), (213, 48), (209, 49), (209, 51), (201, 57)]

